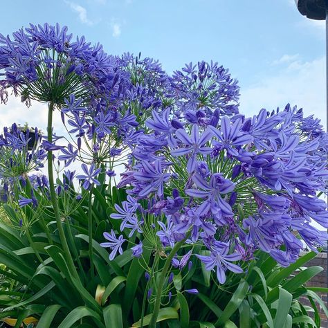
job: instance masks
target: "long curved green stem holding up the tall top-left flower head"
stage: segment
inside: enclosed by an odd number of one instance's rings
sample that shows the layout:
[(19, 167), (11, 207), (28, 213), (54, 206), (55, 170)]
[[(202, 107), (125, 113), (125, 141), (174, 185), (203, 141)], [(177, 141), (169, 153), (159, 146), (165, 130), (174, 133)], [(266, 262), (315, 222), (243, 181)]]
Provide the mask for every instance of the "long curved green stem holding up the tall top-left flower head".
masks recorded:
[[(47, 134), (48, 134), (48, 142), (53, 142), (53, 102), (49, 103), (48, 106), (48, 126), (47, 126)], [(78, 272), (76, 271), (71, 253), (69, 251), (69, 244), (67, 244), (67, 240), (64, 233), (64, 228), (62, 226), (62, 220), (60, 219), (60, 209), (58, 207), (57, 202), (57, 194), (55, 192), (55, 183), (53, 179), (53, 152), (51, 150), (48, 151), (48, 179), (49, 179), (49, 190), (51, 195), (51, 203), (53, 204), (53, 212), (55, 215), (55, 220), (57, 224), (58, 233), (60, 235), (60, 242), (62, 244), (62, 248), (66, 255), (67, 265), (70, 268), (71, 273), (79, 278)]]

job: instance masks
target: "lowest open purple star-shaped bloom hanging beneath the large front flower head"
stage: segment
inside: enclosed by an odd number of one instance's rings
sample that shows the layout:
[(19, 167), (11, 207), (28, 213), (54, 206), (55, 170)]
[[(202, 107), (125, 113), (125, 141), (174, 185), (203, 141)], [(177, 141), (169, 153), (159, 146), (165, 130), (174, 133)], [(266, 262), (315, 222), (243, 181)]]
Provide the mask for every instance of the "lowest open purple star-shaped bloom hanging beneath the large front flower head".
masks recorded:
[(242, 273), (243, 270), (237, 264), (231, 262), (239, 261), (242, 255), (239, 253), (228, 254), (229, 244), (223, 242), (215, 242), (212, 247), (210, 256), (196, 255), (201, 262), (205, 264), (206, 270), (213, 270), (217, 268), (217, 280), (220, 284), (226, 282), (226, 270), (233, 271), (234, 273)]

